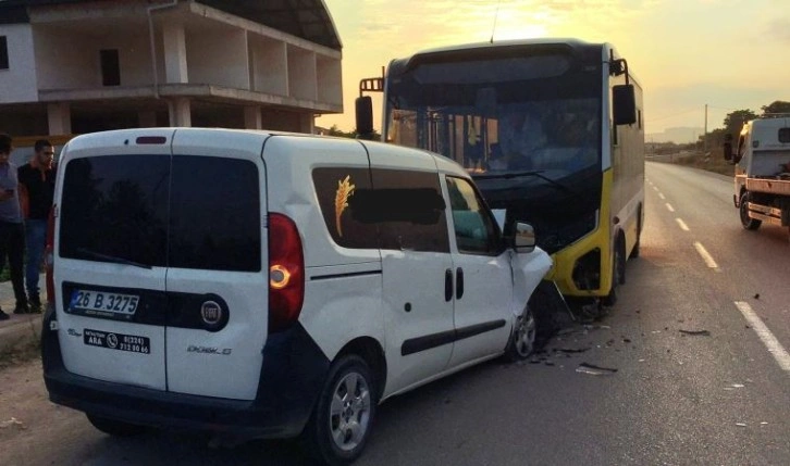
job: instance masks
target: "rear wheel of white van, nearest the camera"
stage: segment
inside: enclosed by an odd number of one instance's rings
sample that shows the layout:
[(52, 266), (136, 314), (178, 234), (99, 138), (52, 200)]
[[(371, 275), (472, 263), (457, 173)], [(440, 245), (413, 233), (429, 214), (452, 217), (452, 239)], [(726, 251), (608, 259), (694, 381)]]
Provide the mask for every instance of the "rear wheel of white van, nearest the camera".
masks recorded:
[(365, 360), (349, 354), (335, 362), (303, 432), (309, 452), (329, 465), (358, 458), (373, 426), (375, 393)]

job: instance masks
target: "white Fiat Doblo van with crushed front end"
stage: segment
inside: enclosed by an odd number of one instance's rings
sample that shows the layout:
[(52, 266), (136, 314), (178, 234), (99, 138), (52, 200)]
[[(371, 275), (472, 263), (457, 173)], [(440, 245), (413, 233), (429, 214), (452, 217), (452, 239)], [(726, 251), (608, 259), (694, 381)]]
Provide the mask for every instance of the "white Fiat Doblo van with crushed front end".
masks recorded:
[(526, 357), (551, 267), (424, 151), (198, 128), (79, 136), (58, 167), (42, 353), (110, 434), (301, 436), (331, 464), (375, 406)]

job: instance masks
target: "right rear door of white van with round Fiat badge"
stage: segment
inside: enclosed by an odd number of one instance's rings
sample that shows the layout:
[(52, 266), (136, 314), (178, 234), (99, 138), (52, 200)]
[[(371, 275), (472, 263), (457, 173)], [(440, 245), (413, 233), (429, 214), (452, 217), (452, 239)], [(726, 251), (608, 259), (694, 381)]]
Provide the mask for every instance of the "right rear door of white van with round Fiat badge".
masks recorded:
[(173, 139), (170, 391), (252, 400), (267, 341), (266, 172), (260, 135), (178, 129)]

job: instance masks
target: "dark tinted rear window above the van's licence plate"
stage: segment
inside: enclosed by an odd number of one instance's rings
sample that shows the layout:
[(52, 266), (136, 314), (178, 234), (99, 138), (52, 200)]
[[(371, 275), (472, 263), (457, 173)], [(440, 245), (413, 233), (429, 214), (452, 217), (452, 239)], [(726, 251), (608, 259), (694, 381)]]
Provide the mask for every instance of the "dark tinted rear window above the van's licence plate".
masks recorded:
[(166, 266), (170, 158), (106, 155), (65, 166), (60, 255)]

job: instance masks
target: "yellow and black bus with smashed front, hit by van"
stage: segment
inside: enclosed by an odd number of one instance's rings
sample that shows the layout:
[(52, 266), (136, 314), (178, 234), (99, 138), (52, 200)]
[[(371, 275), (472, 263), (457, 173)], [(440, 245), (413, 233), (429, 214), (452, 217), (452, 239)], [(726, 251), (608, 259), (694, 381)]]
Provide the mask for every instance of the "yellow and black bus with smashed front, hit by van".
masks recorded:
[(469, 171), (505, 231), (530, 223), (566, 297), (614, 304), (644, 219), (642, 88), (609, 43), (535, 39), (428, 50), (360, 81), (383, 92), (382, 139)]

